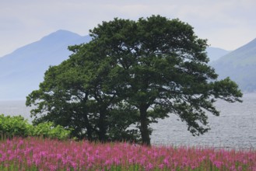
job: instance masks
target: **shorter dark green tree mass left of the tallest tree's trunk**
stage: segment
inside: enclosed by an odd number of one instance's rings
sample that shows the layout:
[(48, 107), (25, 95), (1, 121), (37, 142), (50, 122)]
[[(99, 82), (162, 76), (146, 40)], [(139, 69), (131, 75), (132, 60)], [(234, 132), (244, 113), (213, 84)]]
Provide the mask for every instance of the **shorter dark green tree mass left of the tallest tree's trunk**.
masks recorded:
[(96, 62), (98, 54), (88, 52), (91, 44), (78, 47), (70, 47), (70, 58), (51, 66), (40, 89), (26, 97), (27, 106), (37, 106), (31, 110), (33, 124), (51, 121), (72, 128), (72, 136), (79, 139), (138, 141), (138, 131), (128, 129), (138, 113), (107, 88), (110, 68)]

